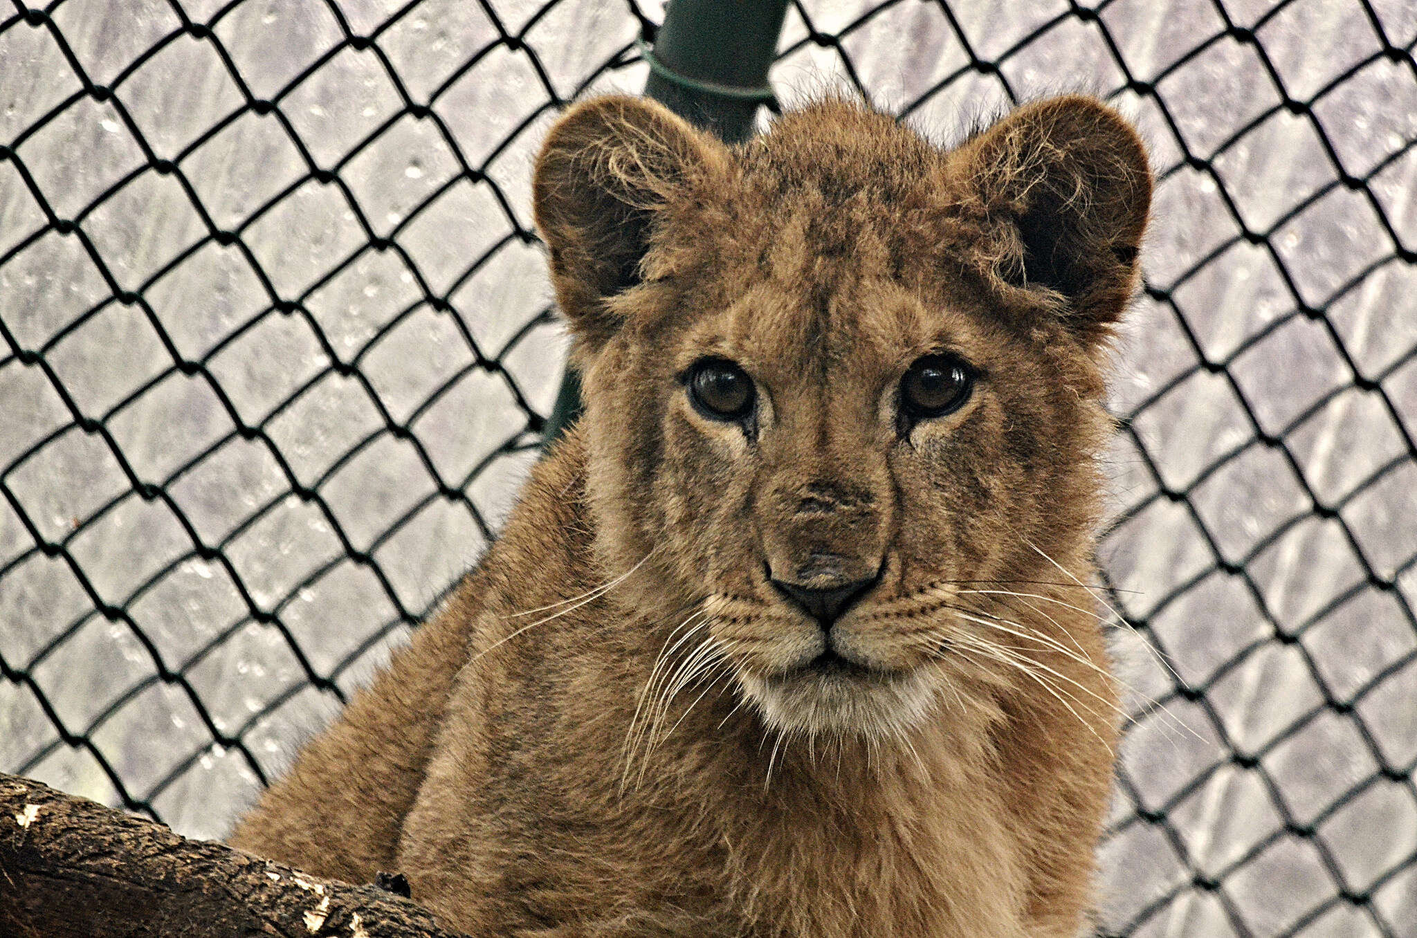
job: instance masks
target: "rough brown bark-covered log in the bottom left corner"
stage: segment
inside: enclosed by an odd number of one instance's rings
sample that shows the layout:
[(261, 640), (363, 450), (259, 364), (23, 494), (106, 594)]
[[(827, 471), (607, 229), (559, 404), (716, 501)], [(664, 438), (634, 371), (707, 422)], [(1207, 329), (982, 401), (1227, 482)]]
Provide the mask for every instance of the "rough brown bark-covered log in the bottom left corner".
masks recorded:
[(4, 938), (459, 938), (373, 886), (306, 876), (0, 775)]

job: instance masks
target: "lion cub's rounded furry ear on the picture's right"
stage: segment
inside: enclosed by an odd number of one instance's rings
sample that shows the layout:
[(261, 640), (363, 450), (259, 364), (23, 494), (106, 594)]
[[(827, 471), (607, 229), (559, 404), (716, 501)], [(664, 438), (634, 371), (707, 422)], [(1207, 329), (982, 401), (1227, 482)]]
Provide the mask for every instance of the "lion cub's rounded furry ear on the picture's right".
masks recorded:
[(993, 273), (1058, 295), (1084, 340), (1105, 334), (1135, 289), (1151, 208), (1151, 167), (1131, 125), (1093, 98), (1053, 98), (1019, 108), (952, 162), (1002, 222)]

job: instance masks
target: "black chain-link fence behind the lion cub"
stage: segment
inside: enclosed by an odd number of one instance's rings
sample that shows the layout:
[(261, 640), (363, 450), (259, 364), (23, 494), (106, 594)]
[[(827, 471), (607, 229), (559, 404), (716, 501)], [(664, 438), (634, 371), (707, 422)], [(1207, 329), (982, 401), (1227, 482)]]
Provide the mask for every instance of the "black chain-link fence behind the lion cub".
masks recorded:
[[(527, 210), (652, 3), (0, 9), (0, 771), (214, 836), (476, 560), (564, 337)], [(1115, 935), (1417, 935), (1417, 7), (803, 0), (782, 96), (1093, 89), (1159, 173), (1104, 577)], [(1145, 640), (1175, 673), (1134, 653)]]

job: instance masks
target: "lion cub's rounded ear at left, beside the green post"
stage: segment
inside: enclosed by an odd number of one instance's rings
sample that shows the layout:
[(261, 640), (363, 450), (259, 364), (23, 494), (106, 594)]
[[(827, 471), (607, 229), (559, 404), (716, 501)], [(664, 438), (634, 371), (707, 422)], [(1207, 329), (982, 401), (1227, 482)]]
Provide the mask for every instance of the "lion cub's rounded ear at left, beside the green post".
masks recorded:
[(619, 327), (656, 220), (727, 159), (721, 143), (645, 98), (580, 103), (551, 128), (531, 180), (561, 312), (591, 350)]

